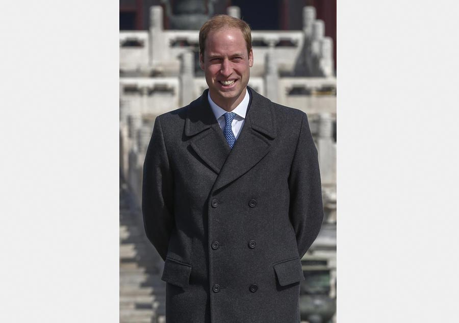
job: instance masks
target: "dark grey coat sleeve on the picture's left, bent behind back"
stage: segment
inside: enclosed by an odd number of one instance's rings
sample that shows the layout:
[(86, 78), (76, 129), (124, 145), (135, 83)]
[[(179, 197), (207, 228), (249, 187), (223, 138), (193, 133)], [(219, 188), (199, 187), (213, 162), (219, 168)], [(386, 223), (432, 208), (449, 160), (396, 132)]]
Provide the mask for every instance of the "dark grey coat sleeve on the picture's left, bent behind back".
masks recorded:
[(146, 236), (163, 260), (175, 225), (172, 181), (161, 122), (157, 117), (143, 163), (142, 214)]

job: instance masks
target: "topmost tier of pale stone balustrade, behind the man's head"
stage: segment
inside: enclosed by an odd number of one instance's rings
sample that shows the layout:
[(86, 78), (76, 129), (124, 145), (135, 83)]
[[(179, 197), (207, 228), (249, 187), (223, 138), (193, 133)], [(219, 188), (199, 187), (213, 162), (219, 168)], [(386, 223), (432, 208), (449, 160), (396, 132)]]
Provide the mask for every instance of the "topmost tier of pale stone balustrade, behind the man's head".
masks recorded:
[[(120, 70), (167, 76), (180, 70), (180, 57), (199, 51), (198, 31), (164, 30), (161, 7), (151, 7), (148, 31), (120, 32)], [(235, 11), (234, 8), (231, 11)], [(301, 31), (252, 31), (254, 64), (252, 75), (266, 70), (268, 53), (282, 74), (291, 76), (333, 76), (333, 42), (324, 37), (322, 20), (315, 9), (305, 7)]]

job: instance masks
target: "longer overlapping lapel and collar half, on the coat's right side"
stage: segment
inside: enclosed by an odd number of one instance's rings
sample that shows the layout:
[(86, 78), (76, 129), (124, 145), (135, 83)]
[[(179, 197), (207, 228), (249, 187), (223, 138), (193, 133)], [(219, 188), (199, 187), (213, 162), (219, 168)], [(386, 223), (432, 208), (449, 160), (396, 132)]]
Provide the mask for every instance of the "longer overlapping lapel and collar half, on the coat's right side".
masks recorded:
[(271, 140), (276, 136), (271, 101), (248, 89), (252, 95), (244, 126), (221, 168), (214, 191), (235, 181), (263, 159), (269, 152)]

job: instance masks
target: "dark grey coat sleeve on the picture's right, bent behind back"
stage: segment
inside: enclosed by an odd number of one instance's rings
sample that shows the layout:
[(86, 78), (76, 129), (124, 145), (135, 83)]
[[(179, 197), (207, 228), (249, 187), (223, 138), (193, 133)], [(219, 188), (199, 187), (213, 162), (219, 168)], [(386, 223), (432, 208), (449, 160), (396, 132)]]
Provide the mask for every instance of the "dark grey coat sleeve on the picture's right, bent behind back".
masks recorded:
[(290, 169), (289, 190), (289, 216), (301, 258), (317, 238), (323, 220), (317, 148), (305, 113), (302, 113), (300, 133)]

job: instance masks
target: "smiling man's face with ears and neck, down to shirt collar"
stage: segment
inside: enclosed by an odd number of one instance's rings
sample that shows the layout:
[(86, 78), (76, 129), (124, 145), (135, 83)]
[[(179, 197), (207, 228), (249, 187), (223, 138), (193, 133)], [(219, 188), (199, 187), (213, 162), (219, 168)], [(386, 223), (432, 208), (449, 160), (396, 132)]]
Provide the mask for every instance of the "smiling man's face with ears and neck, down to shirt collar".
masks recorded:
[(205, 72), (212, 100), (231, 111), (244, 98), (253, 65), (253, 53), (247, 54), (244, 36), (239, 29), (221, 29), (207, 35), (199, 65)]

